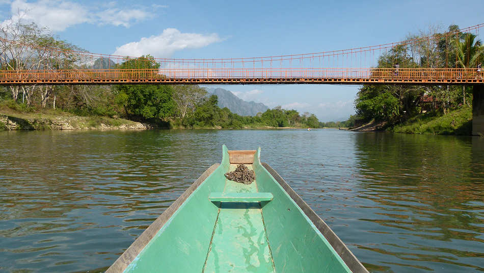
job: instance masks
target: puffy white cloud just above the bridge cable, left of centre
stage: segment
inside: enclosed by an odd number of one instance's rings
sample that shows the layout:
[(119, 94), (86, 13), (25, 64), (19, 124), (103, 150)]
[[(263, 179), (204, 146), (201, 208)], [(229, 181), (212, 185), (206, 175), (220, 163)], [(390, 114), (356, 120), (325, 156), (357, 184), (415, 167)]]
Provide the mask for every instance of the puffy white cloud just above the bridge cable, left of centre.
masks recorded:
[(200, 48), (221, 40), (217, 33), (204, 35), (181, 33), (177, 29), (165, 29), (160, 35), (143, 37), (138, 42), (130, 42), (116, 47), (114, 55), (139, 57), (150, 54), (156, 57), (171, 57), (175, 51), (185, 48)]

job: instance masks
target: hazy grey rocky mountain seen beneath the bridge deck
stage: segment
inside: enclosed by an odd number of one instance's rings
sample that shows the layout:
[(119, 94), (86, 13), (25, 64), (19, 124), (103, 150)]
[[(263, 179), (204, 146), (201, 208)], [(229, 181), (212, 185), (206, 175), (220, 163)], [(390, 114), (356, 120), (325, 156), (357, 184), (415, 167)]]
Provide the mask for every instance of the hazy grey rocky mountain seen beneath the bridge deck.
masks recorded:
[(217, 95), (219, 97), (219, 107), (227, 107), (232, 113), (241, 116), (255, 116), (257, 113), (265, 112), (269, 109), (263, 103), (246, 102), (234, 95), (229, 90), (223, 88), (211, 88), (207, 90), (208, 93)]

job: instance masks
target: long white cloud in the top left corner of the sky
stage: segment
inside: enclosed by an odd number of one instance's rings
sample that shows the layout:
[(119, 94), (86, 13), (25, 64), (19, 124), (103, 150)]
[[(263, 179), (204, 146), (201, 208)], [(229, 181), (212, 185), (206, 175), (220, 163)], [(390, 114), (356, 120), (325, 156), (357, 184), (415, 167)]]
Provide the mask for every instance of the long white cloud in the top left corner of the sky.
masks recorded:
[(104, 5), (107, 8), (99, 10), (98, 7), (64, 0), (38, 0), (29, 3), (25, 0), (15, 0), (11, 3), (11, 14), (14, 21), (20, 18), (24, 22), (35, 22), (53, 32), (64, 31), (81, 23), (112, 24), (128, 28), (133, 22), (154, 16), (147, 8), (121, 9), (115, 6), (116, 2), (110, 2)]

